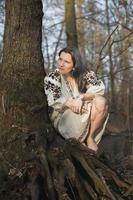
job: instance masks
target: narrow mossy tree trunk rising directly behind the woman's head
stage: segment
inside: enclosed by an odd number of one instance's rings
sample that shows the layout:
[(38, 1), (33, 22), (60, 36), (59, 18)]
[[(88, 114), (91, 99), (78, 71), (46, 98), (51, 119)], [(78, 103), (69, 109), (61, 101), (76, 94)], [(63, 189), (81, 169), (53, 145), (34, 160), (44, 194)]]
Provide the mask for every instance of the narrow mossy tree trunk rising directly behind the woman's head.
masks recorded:
[(65, 23), (67, 45), (78, 47), (75, 0), (65, 0)]

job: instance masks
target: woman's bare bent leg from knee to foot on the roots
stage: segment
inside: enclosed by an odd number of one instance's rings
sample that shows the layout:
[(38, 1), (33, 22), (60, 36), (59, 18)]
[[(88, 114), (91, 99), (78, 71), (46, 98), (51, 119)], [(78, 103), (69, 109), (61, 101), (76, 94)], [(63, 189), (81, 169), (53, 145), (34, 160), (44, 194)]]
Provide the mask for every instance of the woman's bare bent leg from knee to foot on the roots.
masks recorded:
[(90, 116), (90, 130), (89, 135), (86, 140), (88, 148), (97, 151), (98, 147), (94, 141), (94, 137), (102, 128), (102, 125), (107, 116), (107, 102), (106, 99), (102, 96), (97, 96), (92, 102), (91, 116)]

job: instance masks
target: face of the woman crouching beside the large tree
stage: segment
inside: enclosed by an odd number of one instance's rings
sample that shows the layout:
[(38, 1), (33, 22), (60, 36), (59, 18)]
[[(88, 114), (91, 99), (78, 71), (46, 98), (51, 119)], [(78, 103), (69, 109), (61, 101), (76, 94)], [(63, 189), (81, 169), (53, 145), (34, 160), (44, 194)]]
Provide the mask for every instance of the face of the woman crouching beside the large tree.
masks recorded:
[(62, 52), (58, 59), (58, 68), (62, 75), (70, 75), (73, 69), (73, 60), (69, 53)]

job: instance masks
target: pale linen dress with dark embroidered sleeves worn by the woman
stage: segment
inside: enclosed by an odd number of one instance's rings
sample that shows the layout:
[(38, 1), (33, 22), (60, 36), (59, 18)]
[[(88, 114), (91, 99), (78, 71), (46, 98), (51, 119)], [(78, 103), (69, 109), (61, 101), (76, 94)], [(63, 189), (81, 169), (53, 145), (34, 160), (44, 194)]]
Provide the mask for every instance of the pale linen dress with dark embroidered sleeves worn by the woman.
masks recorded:
[[(93, 71), (87, 72), (83, 79), (86, 81), (86, 93), (103, 95), (105, 86), (101, 80), (96, 78)], [(80, 95), (78, 87), (75, 85), (72, 90), (68, 82), (56, 69), (44, 78), (44, 89), (47, 95), (48, 105), (52, 107), (50, 114), (51, 121), (57, 131), (65, 138), (75, 138), (83, 142), (89, 134), (91, 101), (85, 102), (86, 111), (82, 114), (64, 109), (63, 104), (69, 98), (76, 98)], [(98, 144), (102, 138), (108, 117), (106, 118), (102, 130), (94, 138)]]

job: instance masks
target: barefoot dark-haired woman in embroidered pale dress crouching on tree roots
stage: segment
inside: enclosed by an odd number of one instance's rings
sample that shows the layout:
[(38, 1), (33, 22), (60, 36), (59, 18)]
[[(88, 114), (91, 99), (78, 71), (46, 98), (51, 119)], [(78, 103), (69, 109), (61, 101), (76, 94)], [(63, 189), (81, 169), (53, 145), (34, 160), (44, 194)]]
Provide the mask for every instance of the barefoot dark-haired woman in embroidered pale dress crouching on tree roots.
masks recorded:
[(104, 84), (82, 63), (79, 51), (59, 52), (58, 68), (44, 79), (51, 121), (65, 138), (76, 138), (97, 152), (108, 118)]

